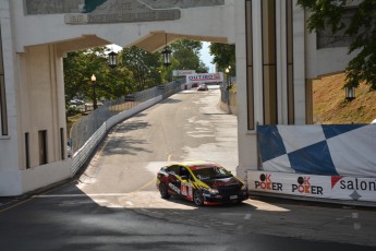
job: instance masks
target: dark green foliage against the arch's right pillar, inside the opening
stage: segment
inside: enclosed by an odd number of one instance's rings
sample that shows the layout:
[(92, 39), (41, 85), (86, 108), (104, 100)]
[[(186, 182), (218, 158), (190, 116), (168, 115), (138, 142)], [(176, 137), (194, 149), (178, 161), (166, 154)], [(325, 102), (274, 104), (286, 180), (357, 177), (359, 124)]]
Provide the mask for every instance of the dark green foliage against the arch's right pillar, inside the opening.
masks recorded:
[(211, 43), (209, 49), (210, 55), (214, 56), (213, 62), (217, 64), (219, 71), (225, 72), (230, 67), (230, 75), (234, 75), (236, 72), (235, 46)]

